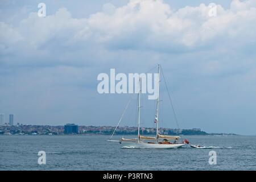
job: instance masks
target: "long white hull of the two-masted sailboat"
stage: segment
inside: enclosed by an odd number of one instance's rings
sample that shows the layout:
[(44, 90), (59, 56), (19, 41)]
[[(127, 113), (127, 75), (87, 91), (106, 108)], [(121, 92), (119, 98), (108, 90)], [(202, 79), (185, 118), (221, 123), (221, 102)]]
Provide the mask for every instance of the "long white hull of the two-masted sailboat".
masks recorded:
[(135, 142), (121, 142), (122, 148), (156, 148), (156, 149), (167, 149), (167, 148), (179, 148), (184, 146), (184, 143), (179, 144), (156, 144), (156, 143), (135, 143)]

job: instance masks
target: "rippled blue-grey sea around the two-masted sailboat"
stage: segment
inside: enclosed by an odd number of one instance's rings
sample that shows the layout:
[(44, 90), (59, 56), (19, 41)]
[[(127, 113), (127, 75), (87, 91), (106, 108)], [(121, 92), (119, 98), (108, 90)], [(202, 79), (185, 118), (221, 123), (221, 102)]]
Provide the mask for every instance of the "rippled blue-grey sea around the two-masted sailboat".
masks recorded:
[[(0, 170), (256, 170), (256, 137), (183, 138), (209, 148), (121, 148), (108, 135), (1, 135)], [(38, 164), (39, 151), (46, 164)], [(210, 151), (216, 164), (209, 164)]]

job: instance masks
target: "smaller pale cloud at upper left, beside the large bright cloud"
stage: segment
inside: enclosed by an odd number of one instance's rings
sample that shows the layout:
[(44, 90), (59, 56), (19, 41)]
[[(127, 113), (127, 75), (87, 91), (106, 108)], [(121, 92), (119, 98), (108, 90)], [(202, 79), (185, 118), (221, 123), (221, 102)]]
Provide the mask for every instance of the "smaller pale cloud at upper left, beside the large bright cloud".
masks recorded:
[(26, 36), (28, 44), (40, 47), (46, 46), (51, 40), (67, 43), (84, 24), (84, 19), (72, 18), (67, 9), (61, 8), (55, 15), (48, 15), (45, 18), (39, 17), (37, 13), (31, 13), (27, 19), (20, 22), (18, 29)]

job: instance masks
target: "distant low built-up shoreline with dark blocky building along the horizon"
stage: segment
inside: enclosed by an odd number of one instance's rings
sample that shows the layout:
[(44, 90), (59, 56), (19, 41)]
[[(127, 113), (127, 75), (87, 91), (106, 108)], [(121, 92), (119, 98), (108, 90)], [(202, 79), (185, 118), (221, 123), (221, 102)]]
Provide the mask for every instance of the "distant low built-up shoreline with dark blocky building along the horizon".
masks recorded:
[[(78, 126), (66, 124), (64, 126), (19, 125), (0, 126), (0, 135), (63, 135), (63, 134), (104, 134), (112, 135), (115, 126)], [(138, 127), (122, 126), (115, 130), (115, 135), (136, 135)], [(142, 127), (143, 135), (155, 135), (155, 127)], [(163, 135), (236, 135), (233, 133), (207, 133), (201, 129), (169, 129), (159, 128)]]

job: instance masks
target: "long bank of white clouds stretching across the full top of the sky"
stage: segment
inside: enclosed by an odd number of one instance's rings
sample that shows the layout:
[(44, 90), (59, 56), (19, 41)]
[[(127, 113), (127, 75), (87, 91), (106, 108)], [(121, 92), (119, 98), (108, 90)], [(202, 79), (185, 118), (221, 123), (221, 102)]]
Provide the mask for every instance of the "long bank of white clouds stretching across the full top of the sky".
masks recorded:
[(13, 44), (13, 39), (23, 36), (24, 44), (35, 49), (47, 49), (52, 40), (71, 47), (96, 43), (114, 49), (172, 52), (221, 46), (223, 40), (229, 44), (238, 40), (239, 47), (256, 39), (255, 0), (234, 0), (228, 10), (217, 5), (216, 17), (210, 17), (208, 11), (204, 4), (172, 11), (163, 1), (131, 0), (121, 7), (105, 4), (102, 12), (76, 19), (61, 8), (46, 18), (31, 13), (15, 30), (2, 23), (1, 28), (9, 27), (6, 34), (15, 33), (9, 40), (1, 38), (1, 44)]

